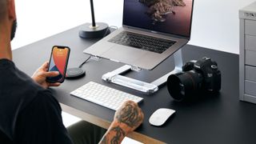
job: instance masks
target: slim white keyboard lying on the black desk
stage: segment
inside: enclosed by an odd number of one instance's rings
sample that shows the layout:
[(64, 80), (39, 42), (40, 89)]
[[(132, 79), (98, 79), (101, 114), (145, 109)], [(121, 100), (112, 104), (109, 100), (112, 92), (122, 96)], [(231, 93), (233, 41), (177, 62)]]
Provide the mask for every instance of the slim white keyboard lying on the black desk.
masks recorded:
[(143, 98), (114, 90), (108, 86), (103, 86), (96, 82), (88, 82), (84, 86), (79, 87), (77, 90), (72, 91), (70, 94), (94, 102), (98, 105), (105, 106), (111, 110), (118, 110), (123, 102), (131, 100), (134, 102), (141, 102)]

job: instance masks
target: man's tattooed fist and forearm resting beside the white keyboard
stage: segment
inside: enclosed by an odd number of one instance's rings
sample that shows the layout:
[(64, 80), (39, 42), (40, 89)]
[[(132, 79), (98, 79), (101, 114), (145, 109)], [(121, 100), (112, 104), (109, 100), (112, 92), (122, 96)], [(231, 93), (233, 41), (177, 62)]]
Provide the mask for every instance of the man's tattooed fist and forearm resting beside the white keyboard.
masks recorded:
[(131, 131), (135, 130), (143, 122), (144, 114), (138, 104), (127, 101), (116, 111), (114, 122), (103, 136), (100, 144), (121, 143)]

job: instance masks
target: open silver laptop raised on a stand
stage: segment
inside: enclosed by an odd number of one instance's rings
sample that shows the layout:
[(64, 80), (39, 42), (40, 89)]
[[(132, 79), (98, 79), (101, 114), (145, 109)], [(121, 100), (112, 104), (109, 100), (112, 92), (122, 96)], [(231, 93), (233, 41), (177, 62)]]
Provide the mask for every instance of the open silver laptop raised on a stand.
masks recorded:
[(194, 0), (124, 0), (122, 27), (83, 52), (153, 70), (189, 42), (193, 5)]

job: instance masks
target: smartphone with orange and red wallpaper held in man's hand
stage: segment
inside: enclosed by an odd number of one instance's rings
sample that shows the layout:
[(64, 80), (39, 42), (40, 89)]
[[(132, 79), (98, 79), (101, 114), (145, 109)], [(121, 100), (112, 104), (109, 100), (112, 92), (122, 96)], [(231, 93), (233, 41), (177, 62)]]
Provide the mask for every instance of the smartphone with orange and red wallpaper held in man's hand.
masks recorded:
[(56, 77), (47, 77), (46, 82), (64, 82), (69, 57), (70, 48), (68, 46), (53, 46), (48, 71), (58, 71), (59, 75)]

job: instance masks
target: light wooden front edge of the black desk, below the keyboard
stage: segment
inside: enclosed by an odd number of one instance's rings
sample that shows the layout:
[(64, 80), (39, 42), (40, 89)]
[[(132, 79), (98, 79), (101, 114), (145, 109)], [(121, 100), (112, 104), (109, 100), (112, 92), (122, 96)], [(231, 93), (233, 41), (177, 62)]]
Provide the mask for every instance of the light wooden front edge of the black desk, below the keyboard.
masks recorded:
[[(66, 113), (72, 114), (78, 118), (82, 118), (82, 120), (85, 120), (86, 122), (90, 122), (94, 125), (101, 126), (104, 129), (108, 129), (108, 127), (110, 126), (111, 122), (107, 122), (106, 120), (95, 117), (94, 115), (91, 115), (91, 114), (87, 114), (81, 110), (74, 109), (73, 107), (66, 106), (62, 103), (60, 103), (60, 105), (62, 106), (62, 110), (65, 111)], [(139, 134), (138, 132), (135, 132), (135, 131), (128, 134), (127, 137), (132, 138), (132, 139), (137, 140), (142, 143), (150, 143), (150, 144), (165, 143), (165, 142), (158, 141), (157, 139), (150, 138), (146, 135)]]

